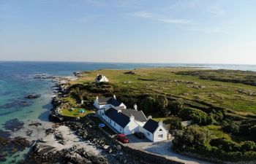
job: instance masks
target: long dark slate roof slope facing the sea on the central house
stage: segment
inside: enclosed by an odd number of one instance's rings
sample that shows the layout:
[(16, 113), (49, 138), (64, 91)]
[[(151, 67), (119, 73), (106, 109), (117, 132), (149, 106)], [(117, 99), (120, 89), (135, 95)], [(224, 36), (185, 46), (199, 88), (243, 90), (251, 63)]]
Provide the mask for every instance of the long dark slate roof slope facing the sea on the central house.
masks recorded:
[(108, 111), (105, 112), (105, 115), (120, 125), (122, 128), (124, 128), (129, 123), (129, 117), (122, 114), (121, 112), (118, 112), (116, 109), (108, 109)]

